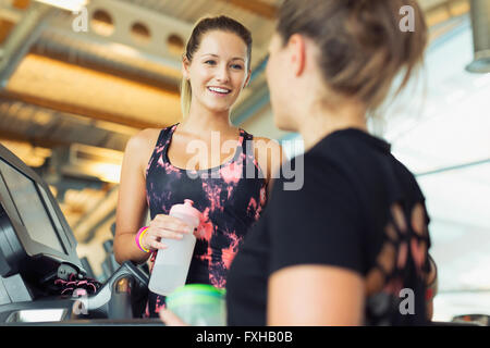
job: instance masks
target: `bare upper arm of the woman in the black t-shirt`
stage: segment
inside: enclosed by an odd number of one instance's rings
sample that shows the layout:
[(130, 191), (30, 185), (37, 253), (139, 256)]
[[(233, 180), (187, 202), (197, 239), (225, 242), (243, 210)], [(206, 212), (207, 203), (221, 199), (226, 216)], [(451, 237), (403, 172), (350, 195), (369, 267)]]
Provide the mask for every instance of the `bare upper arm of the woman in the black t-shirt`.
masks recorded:
[(364, 322), (364, 278), (347, 269), (295, 265), (269, 277), (267, 324), (352, 326)]

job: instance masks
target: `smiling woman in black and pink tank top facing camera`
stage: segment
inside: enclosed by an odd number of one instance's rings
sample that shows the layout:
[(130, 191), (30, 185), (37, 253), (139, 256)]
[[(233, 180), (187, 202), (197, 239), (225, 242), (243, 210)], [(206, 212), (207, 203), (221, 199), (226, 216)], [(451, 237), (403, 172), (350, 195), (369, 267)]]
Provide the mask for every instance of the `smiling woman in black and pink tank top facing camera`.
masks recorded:
[[(225, 286), (231, 261), (266, 206), (272, 166), (282, 153), (279, 144), (254, 139), (230, 122), (250, 78), (250, 33), (238, 22), (219, 16), (195, 26), (182, 64), (183, 121), (142, 130), (126, 146), (114, 237), (119, 263), (143, 263), (150, 256), (155, 261), (167, 248), (162, 239), (194, 233), (186, 283)], [(186, 199), (201, 213), (196, 231), (169, 215)], [(138, 245), (147, 209), (151, 221)], [(150, 291), (146, 315), (157, 315), (163, 304), (164, 297)]]

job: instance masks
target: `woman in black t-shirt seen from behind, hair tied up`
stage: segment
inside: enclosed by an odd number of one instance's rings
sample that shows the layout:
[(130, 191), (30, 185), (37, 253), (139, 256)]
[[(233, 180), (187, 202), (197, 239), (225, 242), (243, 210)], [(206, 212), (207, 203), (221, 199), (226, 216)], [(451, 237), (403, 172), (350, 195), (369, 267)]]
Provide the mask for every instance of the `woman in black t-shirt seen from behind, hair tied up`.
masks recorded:
[[(415, 32), (399, 29), (411, 5)], [(274, 181), (229, 272), (230, 325), (422, 325), (436, 277), (414, 175), (367, 119), (422, 62), (413, 0), (285, 0), (267, 78), (275, 124), (305, 141), (304, 186)], [(287, 88), (284, 88), (287, 86)], [(427, 308), (426, 308), (427, 306)], [(170, 311), (168, 324), (182, 324)]]

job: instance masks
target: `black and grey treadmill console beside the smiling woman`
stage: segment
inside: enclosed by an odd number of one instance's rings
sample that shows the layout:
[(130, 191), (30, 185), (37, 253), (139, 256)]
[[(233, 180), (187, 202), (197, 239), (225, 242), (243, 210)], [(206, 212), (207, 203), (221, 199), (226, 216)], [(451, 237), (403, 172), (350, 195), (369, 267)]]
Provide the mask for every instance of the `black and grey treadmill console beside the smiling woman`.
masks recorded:
[(100, 284), (83, 264), (47, 184), (0, 145), (0, 325), (161, 325), (138, 320), (149, 282), (140, 268), (125, 262)]

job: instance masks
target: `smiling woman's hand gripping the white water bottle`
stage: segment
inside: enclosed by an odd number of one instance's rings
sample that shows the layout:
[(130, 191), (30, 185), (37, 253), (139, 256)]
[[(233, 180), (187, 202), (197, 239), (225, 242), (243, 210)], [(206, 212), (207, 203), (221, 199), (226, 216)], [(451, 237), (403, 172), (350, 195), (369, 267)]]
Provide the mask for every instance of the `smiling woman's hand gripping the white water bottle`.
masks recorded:
[(161, 238), (182, 239), (184, 234), (194, 233), (194, 228), (182, 220), (158, 214), (150, 222), (148, 229), (142, 238), (142, 245), (148, 250), (167, 249), (167, 245), (161, 243)]

